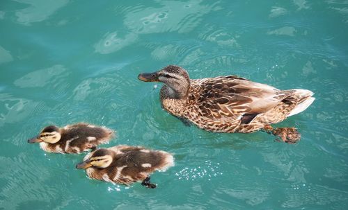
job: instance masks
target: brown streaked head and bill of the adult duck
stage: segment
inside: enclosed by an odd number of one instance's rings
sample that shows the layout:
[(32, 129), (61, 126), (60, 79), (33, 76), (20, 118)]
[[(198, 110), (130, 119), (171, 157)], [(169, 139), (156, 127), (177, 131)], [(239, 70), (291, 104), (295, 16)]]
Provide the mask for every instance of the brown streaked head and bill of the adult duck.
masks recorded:
[(144, 82), (163, 82), (170, 98), (184, 98), (189, 93), (189, 74), (182, 67), (170, 65), (153, 73), (141, 73), (138, 78)]

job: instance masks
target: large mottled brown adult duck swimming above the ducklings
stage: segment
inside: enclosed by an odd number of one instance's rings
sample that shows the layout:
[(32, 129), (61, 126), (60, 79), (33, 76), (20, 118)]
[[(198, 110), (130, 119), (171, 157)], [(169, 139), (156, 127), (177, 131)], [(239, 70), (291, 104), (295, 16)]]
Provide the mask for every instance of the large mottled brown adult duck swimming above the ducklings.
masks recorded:
[(296, 129), (273, 130), (271, 124), (303, 112), (315, 100), (306, 89), (280, 90), (238, 76), (191, 80), (185, 69), (175, 65), (141, 73), (138, 78), (163, 82), (160, 100), (164, 110), (199, 128), (229, 133), (265, 130), (292, 143), (301, 137)]

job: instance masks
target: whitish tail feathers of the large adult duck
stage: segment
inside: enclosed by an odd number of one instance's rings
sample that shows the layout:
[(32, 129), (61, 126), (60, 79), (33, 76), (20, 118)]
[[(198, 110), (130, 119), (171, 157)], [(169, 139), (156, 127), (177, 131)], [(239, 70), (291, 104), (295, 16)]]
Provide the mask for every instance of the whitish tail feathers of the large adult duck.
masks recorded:
[(292, 116), (294, 114), (299, 114), (306, 110), (315, 100), (313, 92), (308, 89), (292, 89), (294, 93), (290, 97), (285, 98), (285, 100), (290, 100), (297, 105), (290, 111), (287, 116)]

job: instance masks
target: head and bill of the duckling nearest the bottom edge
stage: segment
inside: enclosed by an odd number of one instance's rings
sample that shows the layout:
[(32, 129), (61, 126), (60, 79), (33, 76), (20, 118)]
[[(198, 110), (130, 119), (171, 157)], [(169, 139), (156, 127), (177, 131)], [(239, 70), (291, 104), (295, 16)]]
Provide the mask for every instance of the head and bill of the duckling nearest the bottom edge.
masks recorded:
[(76, 168), (86, 169), (91, 166), (94, 166), (96, 168), (106, 168), (109, 167), (112, 163), (113, 157), (115, 157), (115, 152), (105, 148), (100, 148), (95, 150), (95, 152), (93, 152), (93, 154), (88, 157), (88, 159), (77, 164)]

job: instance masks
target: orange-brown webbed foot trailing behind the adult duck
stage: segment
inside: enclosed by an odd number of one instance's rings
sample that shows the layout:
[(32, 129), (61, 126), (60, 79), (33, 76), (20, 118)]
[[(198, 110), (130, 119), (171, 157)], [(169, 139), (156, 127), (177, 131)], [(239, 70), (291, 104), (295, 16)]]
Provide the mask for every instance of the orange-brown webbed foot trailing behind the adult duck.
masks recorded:
[(264, 131), (268, 134), (274, 134), (280, 137), (281, 141), (286, 143), (296, 143), (301, 139), (301, 134), (296, 128), (272, 128), (271, 125), (265, 125)]

